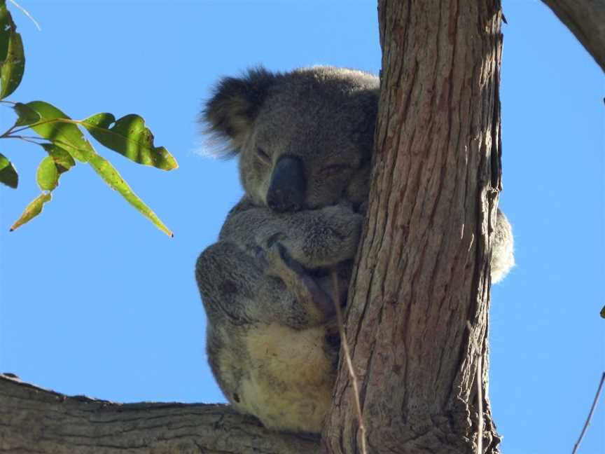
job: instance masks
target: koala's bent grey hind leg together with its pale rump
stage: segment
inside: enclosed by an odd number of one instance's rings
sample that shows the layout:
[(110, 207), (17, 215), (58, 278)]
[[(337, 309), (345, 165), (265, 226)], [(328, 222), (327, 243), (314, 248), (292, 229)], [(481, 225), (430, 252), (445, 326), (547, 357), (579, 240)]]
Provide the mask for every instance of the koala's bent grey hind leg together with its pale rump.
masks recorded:
[(338, 331), (329, 320), (318, 323), (321, 311), (307, 310), (307, 302), (266, 271), (263, 261), (229, 242), (200, 255), (195, 275), (208, 316), (209, 363), (237, 411), (265, 427), (320, 432)]

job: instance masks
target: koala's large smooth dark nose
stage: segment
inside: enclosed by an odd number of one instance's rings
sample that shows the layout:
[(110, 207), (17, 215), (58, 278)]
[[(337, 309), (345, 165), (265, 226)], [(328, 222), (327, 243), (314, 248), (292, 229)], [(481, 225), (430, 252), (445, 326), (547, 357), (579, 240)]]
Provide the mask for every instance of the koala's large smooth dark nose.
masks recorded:
[(302, 160), (296, 156), (281, 156), (271, 175), (267, 205), (279, 213), (298, 211), (305, 203), (306, 191), (307, 180)]

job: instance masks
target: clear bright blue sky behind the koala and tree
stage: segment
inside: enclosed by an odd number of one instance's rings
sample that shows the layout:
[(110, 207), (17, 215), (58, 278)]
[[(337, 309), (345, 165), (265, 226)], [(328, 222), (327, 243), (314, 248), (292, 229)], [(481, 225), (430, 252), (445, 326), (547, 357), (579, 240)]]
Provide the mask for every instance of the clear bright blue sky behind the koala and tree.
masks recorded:
[[(0, 188), (0, 371), (115, 401), (223, 401), (204, 354), (197, 254), (238, 200), (235, 162), (200, 156), (211, 85), (253, 64), (380, 69), (375, 1), (22, 0), (25, 78), (10, 99), (74, 118), (144, 116), (180, 168), (99, 147), (175, 233), (156, 230), (87, 166), (43, 214), (42, 149), (1, 144), (21, 177)], [(540, 1), (505, 0), (501, 206), (517, 267), (493, 290), (491, 383), (505, 453), (569, 453), (604, 369), (604, 78)], [(13, 122), (10, 109), (0, 123)], [(605, 402), (581, 453), (605, 451)]]

